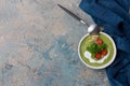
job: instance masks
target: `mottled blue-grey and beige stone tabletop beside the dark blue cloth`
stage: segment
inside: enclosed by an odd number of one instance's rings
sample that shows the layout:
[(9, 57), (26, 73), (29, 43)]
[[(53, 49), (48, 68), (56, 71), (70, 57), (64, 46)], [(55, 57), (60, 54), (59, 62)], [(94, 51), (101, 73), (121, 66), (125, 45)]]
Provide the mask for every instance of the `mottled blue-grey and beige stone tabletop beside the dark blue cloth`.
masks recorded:
[(0, 0), (0, 86), (109, 86), (78, 57), (87, 27), (57, 3), (92, 23), (80, 0)]

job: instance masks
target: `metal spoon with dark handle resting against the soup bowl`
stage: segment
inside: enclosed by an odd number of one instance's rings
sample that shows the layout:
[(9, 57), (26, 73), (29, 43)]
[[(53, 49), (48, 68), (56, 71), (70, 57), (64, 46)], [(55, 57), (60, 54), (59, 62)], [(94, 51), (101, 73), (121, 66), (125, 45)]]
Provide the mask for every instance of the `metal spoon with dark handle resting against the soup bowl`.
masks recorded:
[(80, 22), (83, 25), (88, 26), (88, 33), (90, 34), (99, 34), (100, 31), (102, 30), (102, 28), (96, 25), (96, 24), (92, 24), (89, 25), (87, 24), (83, 19), (81, 19), (80, 17), (78, 17), (76, 14), (74, 14), (73, 12), (70, 12), (69, 10), (67, 10), (66, 8), (62, 6), (61, 4), (57, 4), (62, 10), (64, 10), (67, 14), (69, 14), (70, 16), (73, 16), (75, 19), (77, 19), (78, 22)]

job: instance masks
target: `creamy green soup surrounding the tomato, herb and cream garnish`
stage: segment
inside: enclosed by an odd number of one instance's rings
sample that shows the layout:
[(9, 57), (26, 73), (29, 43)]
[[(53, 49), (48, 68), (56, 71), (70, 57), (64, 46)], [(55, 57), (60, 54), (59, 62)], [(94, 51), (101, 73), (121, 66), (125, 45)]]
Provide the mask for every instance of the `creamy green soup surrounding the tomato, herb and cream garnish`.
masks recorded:
[(115, 47), (115, 43), (113, 42), (113, 40), (103, 32), (101, 32), (99, 37), (103, 40), (104, 43), (106, 43), (107, 49), (109, 52), (108, 57), (104, 60), (104, 62), (101, 62), (101, 63), (90, 62), (90, 60), (87, 57), (84, 57), (84, 52), (87, 52), (87, 45), (89, 44), (89, 41), (92, 39), (92, 35), (87, 35), (86, 38), (83, 38), (79, 45), (80, 58), (82, 59), (83, 62), (86, 62), (90, 67), (102, 67), (104, 64), (107, 64), (109, 61), (114, 60), (115, 58), (116, 47)]

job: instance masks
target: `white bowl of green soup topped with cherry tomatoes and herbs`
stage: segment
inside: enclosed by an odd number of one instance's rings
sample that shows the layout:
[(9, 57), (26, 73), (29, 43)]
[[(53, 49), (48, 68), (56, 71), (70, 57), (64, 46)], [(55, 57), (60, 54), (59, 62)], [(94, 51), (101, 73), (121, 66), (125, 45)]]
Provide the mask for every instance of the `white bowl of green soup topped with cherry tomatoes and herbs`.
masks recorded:
[(86, 34), (79, 42), (78, 55), (89, 68), (104, 69), (116, 58), (116, 44), (105, 32), (99, 35)]

